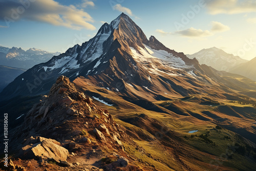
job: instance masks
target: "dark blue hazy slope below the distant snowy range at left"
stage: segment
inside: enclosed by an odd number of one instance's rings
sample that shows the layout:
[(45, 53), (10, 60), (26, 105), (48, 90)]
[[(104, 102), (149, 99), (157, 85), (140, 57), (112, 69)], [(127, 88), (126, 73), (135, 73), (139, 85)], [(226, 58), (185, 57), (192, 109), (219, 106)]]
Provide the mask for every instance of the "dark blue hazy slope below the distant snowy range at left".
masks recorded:
[(13, 68), (7, 66), (0, 66), (0, 92), (10, 83), (12, 82), (17, 76), (24, 73), (25, 69), (20, 68)]

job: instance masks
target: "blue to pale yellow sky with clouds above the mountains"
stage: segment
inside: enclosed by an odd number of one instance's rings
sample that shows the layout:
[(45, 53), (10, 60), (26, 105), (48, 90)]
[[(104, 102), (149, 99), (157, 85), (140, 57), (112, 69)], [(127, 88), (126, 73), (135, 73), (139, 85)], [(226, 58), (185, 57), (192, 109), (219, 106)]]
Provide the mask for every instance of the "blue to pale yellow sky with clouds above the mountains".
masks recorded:
[(178, 52), (217, 47), (256, 56), (256, 2), (250, 0), (0, 0), (0, 45), (65, 52), (121, 12)]

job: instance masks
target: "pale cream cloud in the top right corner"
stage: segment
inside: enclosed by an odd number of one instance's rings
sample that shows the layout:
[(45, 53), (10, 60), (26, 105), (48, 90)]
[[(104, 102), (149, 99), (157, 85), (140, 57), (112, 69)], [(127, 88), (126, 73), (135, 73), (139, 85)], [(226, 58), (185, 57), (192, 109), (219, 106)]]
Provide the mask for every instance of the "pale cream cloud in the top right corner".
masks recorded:
[(212, 15), (256, 12), (256, 2), (252, 0), (215, 0), (206, 3), (206, 7)]

